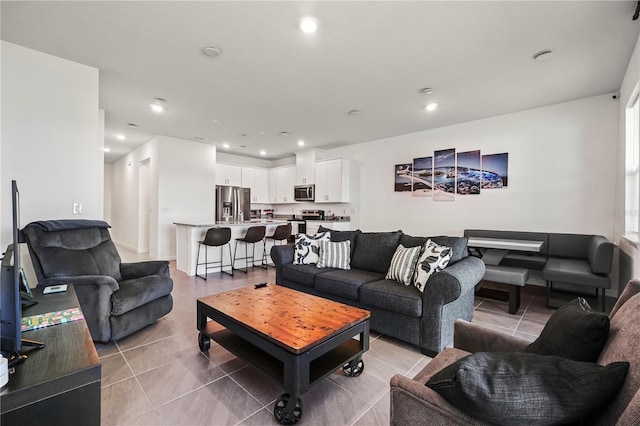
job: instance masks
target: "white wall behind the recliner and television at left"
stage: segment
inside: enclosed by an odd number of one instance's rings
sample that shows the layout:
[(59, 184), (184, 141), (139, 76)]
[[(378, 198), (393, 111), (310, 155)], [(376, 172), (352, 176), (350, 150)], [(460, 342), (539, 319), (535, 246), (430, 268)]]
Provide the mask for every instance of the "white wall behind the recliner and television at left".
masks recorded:
[[(103, 217), (104, 115), (98, 70), (2, 41), (1, 246), (11, 240), (10, 181), (22, 225)], [(72, 214), (73, 203), (83, 212)]]

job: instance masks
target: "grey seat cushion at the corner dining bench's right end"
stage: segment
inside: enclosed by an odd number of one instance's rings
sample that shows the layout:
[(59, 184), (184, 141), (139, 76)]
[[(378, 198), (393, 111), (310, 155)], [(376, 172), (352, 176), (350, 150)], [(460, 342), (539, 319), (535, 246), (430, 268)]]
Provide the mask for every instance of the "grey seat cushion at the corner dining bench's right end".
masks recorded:
[(542, 279), (598, 288), (611, 287), (611, 279), (607, 275), (594, 274), (589, 262), (579, 259), (550, 257), (542, 269)]

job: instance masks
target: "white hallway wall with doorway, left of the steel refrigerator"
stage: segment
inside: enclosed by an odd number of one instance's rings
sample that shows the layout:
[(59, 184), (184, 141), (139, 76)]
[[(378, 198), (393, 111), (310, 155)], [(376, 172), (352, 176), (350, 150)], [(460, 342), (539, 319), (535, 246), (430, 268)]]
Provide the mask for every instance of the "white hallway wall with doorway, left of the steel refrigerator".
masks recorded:
[(149, 162), (149, 255), (175, 258), (174, 222), (213, 223), (216, 148), (157, 136), (113, 163), (113, 238), (139, 250), (139, 168)]

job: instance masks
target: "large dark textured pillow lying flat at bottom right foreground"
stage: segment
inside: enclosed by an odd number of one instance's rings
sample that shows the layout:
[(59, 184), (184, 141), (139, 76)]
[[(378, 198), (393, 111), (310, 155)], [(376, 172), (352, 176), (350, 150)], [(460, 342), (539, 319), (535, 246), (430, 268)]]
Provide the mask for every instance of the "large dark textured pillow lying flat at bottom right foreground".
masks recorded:
[(426, 386), (487, 422), (566, 424), (606, 404), (628, 369), (628, 362), (603, 367), (555, 356), (476, 352), (436, 373)]

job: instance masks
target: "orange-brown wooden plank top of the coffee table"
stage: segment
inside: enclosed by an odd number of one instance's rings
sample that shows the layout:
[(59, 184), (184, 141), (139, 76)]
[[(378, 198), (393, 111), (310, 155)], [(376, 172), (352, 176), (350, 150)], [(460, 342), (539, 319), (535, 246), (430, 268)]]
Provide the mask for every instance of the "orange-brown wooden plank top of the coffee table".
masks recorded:
[(198, 298), (285, 349), (300, 353), (368, 319), (369, 311), (276, 284)]

